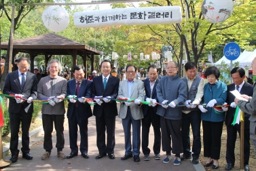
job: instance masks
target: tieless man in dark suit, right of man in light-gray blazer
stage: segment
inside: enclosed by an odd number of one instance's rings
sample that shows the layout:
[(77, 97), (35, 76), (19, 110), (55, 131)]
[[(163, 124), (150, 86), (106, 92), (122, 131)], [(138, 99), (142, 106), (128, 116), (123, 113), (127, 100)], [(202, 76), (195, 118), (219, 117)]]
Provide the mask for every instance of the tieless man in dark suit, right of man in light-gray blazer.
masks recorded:
[(147, 69), (149, 78), (143, 79), (145, 86), (145, 100), (151, 102), (149, 105), (142, 105), (144, 118), (142, 119), (142, 151), (144, 154), (144, 160), (149, 160), (150, 149), (149, 145), (149, 129), (152, 123), (153, 132), (155, 135), (153, 143), (153, 152), (155, 159), (161, 159), (160, 148), (161, 148), (161, 130), (160, 130), (160, 115), (156, 114), (158, 105), (158, 97), (156, 96), (156, 86), (158, 85), (158, 69), (155, 64), (152, 64)]

